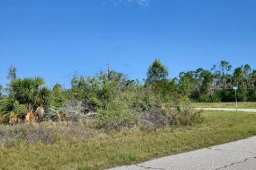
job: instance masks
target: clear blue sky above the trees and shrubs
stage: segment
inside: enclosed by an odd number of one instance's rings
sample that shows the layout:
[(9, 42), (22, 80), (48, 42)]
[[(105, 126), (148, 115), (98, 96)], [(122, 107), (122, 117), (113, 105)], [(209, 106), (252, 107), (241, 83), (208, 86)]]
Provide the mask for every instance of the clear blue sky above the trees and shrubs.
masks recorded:
[(170, 78), (220, 60), (256, 69), (255, 0), (0, 0), (0, 84), (47, 84), (111, 68), (142, 80), (154, 58)]

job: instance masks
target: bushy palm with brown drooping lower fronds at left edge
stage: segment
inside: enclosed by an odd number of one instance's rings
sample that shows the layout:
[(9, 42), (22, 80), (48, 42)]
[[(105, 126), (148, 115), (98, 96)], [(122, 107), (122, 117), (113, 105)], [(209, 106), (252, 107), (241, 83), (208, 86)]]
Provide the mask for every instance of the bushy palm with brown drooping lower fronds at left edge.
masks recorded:
[(43, 85), (40, 77), (15, 79), (10, 84), (12, 95), (0, 100), (2, 120), (13, 124), (24, 118), (31, 122), (43, 116), (50, 97), (50, 90)]

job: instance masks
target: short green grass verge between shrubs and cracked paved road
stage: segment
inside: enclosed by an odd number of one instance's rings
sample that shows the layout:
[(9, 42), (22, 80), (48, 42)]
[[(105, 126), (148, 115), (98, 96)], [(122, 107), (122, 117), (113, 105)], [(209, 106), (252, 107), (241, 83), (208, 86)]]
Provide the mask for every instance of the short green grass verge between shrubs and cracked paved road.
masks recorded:
[(256, 135), (256, 114), (205, 111), (201, 124), (0, 147), (0, 169), (104, 169)]

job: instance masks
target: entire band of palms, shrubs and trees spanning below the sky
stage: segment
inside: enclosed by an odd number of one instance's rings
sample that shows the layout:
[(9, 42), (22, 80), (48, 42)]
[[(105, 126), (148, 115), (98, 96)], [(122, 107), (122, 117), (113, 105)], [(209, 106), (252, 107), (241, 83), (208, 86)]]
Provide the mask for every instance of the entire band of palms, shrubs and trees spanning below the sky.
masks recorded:
[(89, 116), (97, 118), (99, 127), (111, 128), (188, 124), (198, 118), (190, 101), (234, 101), (233, 84), (239, 86), (238, 101), (256, 101), (256, 70), (245, 64), (232, 71), (226, 61), (169, 79), (167, 67), (155, 59), (143, 82), (110, 70), (74, 75), (67, 89), (60, 83), (49, 89), (42, 78), (17, 78), (16, 72), (12, 65), (4, 93), (0, 86), (0, 121), (11, 124)]

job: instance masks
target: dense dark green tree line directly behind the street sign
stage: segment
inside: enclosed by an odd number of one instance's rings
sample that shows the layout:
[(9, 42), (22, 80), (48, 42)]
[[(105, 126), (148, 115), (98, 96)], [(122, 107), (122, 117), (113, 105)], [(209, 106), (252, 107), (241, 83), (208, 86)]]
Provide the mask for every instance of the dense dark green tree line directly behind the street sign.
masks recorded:
[(238, 101), (256, 101), (256, 70), (249, 64), (234, 71), (227, 61), (213, 65), (211, 70), (202, 68), (180, 73), (178, 84), (190, 99), (203, 102), (234, 101), (234, 85), (238, 85)]

